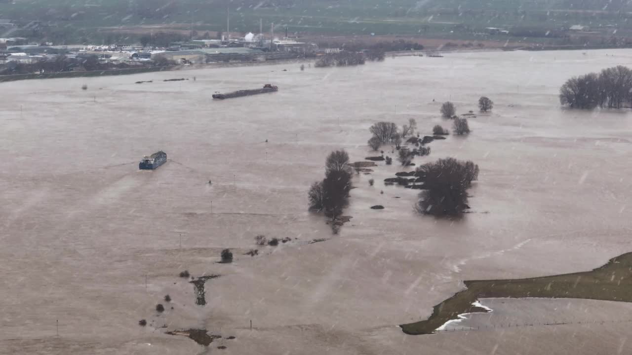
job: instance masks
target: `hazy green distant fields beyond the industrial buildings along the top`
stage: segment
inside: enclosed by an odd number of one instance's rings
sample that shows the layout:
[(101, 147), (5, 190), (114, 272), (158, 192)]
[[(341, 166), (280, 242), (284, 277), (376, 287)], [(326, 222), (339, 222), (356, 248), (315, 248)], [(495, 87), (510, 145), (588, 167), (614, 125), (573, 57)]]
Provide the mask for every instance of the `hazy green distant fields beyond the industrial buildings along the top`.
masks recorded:
[[(482, 31), (485, 27), (538, 27), (588, 24), (631, 27), (632, 15), (623, 0), (279, 0), (268, 6), (260, 0), (16, 0), (0, 4), (0, 18), (27, 23), (43, 21), (51, 27), (9, 32), (60, 42), (125, 40), (109, 39), (102, 27), (190, 24), (200, 31), (225, 31), (228, 4), (231, 31), (257, 32), (260, 20), (265, 31), (274, 23), (296, 34), (343, 35), (434, 35)], [(628, 21), (628, 17), (630, 17)], [(630, 23), (631, 25), (626, 25)], [(455, 28), (456, 25), (466, 28)], [(451, 32), (452, 31), (452, 32)], [(8, 33), (5, 33), (8, 35)], [(130, 38), (129, 40), (133, 40)]]

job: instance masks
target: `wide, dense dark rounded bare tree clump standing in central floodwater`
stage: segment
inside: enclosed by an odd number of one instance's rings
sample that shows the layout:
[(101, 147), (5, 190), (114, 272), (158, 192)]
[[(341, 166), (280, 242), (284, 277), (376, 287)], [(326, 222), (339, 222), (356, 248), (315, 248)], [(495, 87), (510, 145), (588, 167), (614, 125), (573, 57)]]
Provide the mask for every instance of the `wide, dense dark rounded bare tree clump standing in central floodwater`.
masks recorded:
[(469, 208), (467, 189), (478, 179), (478, 165), (454, 158), (439, 159), (417, 168), (427, 190), (419, 194), (415, 209), (421, 214), (459, 215)]

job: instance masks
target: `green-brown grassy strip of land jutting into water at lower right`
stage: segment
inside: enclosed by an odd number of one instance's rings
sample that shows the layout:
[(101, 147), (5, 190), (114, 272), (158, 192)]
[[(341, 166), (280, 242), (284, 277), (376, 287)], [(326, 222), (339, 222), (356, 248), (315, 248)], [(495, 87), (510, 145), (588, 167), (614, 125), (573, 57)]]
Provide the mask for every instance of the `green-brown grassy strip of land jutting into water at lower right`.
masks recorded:
[(612, 258), (588, 272), (516, 280), (465, 281), (465, 290), (434, 306), (427, 320), (401, 325), (406, 334), (432, 334), (461, 313), (485, 311), (479, 298), (580, 298), (632, 302), (632, 253)]

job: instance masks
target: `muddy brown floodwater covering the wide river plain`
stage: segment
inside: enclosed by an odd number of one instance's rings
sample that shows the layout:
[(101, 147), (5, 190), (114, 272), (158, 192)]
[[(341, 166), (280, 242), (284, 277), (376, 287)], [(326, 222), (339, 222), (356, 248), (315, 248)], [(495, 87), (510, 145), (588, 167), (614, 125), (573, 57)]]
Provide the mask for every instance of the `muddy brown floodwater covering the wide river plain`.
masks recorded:
[[(0, 353), (197, 354), (164, 334), (188, 328), (235, 336), (210, 345), (226, 354), (629, 353), (632, 331), (615, 323), (422, 336), (396, 325), (427, 318), (461, 280), (590, 270), (630, 251), (632, 116), (562, 110), (557, 90), (631, 61), (630, 50), (474, 52), (2, 83)], [(267, 82), (281, 90), (210, 100)], [(339, 234), (307, 212), (328, 152), (362, 160), (372, 123), (413, 117), (428, 134), (449, 125), (442, 101), (463, 114), (481, 95), (495, 107), (470, 119), (469, 136), (415, 160), (480, 166), (463, 220), (415, 215), (415, 191), (382, 183), (403, 169), (381, 162), (353, 178)], [(157, 150), (170, 161), (138, 171)], [(293, 240), (243, 255), (257, 234)], [(216, 263), (223, 248), (232, 264)], [(185, 269), (222, 275), (207, 281), (206, 306)], [(546, 301), (524, 322), (554, 320)], [(511, 304), (520, 315), (529, 301)], [(629, 318), (629, 305), (590, 312)]]

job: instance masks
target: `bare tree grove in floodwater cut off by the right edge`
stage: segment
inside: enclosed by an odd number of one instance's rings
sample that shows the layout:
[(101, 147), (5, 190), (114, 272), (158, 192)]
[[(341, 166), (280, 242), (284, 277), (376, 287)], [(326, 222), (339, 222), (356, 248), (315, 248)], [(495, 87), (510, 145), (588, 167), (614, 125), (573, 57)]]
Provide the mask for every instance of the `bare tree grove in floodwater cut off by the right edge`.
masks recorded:
[(559, 89), (559, 101), (574, 109), (620, 109), (632, 102), (632, 70), (619, 65), (574, 76)]

